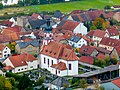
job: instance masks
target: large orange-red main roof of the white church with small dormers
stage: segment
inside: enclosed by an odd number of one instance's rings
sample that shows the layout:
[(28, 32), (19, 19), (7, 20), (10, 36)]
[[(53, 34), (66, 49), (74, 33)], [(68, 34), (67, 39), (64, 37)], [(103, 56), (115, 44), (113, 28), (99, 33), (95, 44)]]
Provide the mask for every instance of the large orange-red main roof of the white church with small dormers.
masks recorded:
[(54, 41), (44, 46), (41, 54), (45, 54), (57, 59), (61, 58), (64, 60), (78, 60), (78, 57), (75, 55), (74, 51), (70, 49), (70, 46)]

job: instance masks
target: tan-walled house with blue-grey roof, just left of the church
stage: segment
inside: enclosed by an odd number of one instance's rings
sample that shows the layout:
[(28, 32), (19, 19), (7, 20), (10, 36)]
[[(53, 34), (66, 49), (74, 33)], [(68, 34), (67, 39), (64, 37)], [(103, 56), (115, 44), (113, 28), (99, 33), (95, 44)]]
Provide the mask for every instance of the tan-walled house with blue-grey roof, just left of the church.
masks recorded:
[(18, 42), (15, 46), (15, 52), (18, 54), (27, 52), (32, 55), (38, 55), (39, 45), (40, 44), (38, 40), (32, 40), (29, 42)]

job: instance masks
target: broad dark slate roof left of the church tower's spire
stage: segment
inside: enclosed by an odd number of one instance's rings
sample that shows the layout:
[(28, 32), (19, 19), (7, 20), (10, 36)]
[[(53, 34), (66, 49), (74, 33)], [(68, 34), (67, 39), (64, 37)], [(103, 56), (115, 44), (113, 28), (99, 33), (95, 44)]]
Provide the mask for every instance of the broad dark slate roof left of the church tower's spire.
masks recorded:
[(46, 23), (46, 20), (41, 20), (41, 19), (29, 20), (29, 23), (30, 23), (32, 29), (39, 29), (39, 28), (41, 28), (42, 25), (44, 25)]

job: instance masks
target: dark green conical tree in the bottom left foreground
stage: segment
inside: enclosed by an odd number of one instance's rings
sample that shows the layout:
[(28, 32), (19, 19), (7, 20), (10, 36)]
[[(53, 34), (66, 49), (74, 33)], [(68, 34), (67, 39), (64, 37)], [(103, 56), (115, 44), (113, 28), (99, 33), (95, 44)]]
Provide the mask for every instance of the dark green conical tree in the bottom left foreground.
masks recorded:
[(27, 89), (29, 86), (31, 86), (31, 81), (28, 76), (24, 74), (19, 81), (18, 88), (19, 90), (24, 90)]

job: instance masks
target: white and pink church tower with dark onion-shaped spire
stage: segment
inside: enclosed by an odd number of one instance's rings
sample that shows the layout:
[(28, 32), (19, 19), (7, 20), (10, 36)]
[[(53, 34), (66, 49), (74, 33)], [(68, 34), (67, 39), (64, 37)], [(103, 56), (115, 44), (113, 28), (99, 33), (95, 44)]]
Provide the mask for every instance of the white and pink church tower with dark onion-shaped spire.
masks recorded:
[(53, 41), (52, 26), (50, 25), (50, 19), (47, 19), (47, 24), (44, 27), (43, 45), (47, 45), (51, 41)]

